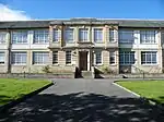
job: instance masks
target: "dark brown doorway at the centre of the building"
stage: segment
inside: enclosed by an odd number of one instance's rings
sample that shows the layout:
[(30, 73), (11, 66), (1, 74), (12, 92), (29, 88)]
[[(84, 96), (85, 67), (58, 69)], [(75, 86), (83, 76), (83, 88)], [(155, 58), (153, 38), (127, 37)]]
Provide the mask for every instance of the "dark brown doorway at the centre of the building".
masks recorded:
[(87, 51), (79, 51), (79, 69), (87, 71)]

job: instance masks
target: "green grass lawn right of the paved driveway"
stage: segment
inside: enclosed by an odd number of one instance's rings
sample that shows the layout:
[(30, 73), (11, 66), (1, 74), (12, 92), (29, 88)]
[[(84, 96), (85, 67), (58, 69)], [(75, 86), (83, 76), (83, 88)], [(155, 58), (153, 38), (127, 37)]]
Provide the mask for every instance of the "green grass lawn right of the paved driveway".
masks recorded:
[(142, 97), (164, 103), (164, 81), (120, 81), (117, 84), (139, 94)]

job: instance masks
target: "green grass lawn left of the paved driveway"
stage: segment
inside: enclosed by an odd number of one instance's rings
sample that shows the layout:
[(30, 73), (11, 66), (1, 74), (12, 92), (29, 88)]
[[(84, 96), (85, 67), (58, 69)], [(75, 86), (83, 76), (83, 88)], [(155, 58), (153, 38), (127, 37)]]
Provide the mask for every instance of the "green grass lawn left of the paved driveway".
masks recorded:
[(50, 84), (46, 80), (0, 78), (0, 106)]

